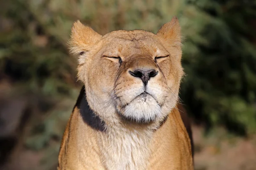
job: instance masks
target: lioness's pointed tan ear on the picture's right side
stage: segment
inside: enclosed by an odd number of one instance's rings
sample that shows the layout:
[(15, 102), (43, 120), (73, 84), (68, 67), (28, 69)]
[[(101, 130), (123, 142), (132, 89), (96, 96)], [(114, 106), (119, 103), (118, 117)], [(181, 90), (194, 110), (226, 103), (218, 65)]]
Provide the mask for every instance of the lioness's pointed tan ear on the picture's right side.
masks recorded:
[(169, 23), (164, 24), (157, 31), (157, 36), (168, 43), (168, 46), (181, 48), (180, 24), (177, 17), (173, 17)]

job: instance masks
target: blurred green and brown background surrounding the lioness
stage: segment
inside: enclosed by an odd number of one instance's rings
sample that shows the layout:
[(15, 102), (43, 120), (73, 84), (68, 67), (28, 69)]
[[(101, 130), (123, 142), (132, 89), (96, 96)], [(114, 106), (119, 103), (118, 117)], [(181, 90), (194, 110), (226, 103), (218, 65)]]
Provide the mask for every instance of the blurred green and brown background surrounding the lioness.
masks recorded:
[(255, 170), (256, 0), (0, 0), (0, 169), (56, 169), (82, 86), (67, 45), (74, 21), (156, 33), (174, 15), (195, 169)]

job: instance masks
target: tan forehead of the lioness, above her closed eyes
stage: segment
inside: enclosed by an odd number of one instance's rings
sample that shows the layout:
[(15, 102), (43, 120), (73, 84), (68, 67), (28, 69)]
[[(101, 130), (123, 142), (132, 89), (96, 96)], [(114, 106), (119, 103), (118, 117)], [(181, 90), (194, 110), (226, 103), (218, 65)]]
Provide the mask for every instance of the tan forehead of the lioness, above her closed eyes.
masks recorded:
[(109, 52), (142, 52), (155, 53), (157, 51), (167, 52), (161, 45), (157, 36), (143, 30), (134, 31), (112, 31), (102, 37), (104, 48)]

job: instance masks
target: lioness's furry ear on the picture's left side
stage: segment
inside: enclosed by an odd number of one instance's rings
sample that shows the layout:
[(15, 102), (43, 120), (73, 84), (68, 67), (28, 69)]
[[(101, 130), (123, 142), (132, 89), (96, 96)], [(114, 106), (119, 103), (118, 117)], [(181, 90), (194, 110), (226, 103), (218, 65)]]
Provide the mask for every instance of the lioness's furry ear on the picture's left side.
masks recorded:
[(81, 54), (90, 51), (92, 46), (101, 37), (102, 35), (77, 20), (71, 29), (71, 37), (69, 40), (70, 51), (73, 54)]

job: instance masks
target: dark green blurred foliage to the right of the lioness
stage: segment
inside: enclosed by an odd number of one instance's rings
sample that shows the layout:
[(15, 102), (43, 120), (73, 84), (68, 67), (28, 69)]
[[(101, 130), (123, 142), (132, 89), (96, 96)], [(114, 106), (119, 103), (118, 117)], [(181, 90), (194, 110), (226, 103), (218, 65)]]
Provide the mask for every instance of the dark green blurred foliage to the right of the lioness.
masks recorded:
[(256, 18), (256, 3), (189, 2), (182, 18), (195, 20), (186, 24), (196, 26), (185, 28), (192, 28), (196, 35), (183, 31), (189, 34), (184, 43), (183, 66), (187, 76), (181, 98), (195, 118), (203, 119), (209, 126), (225, 125), (235, 133), (254, 133), (256, 48), (252, 42), (256, 33), (250, 23)]

